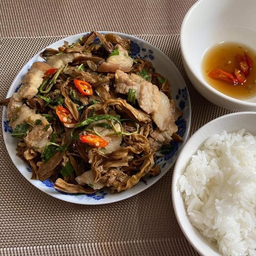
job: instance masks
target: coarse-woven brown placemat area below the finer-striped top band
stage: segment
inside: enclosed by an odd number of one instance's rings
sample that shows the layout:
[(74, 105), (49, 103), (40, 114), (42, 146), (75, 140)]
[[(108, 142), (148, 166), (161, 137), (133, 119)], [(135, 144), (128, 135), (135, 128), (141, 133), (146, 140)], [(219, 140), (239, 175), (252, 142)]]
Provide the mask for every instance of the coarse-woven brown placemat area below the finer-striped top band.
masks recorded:
[[(190, 134), (208, 121), (228, 113), (205, 100), (189, 83), (180, 60), (178, 35), (139, 37), (169, 56), (185, 78), (192, 102)], [(1, 98), (26, 61), (58, 39), (60, 37), (15, 39), (12, 52), (4, 52), (10, 39), (2, 39)], [(24, 51), (28, 45), (28, 51)], [(41, 255), (46, 250), (46, 255), (58, 255), (60, 251), (85, 250), (88, 255), (121, 255), (121, 252), (123, 255), (196, 255), (174, 216), (171, 200), (173, 168), (155, 185), (122, 202), (74, 205), (34, 188), (12, 164), (2, 134), (0, 145), (3, 149), (0, 152), (2, 252), (19, 255), (24, 251), (28, 255)]]

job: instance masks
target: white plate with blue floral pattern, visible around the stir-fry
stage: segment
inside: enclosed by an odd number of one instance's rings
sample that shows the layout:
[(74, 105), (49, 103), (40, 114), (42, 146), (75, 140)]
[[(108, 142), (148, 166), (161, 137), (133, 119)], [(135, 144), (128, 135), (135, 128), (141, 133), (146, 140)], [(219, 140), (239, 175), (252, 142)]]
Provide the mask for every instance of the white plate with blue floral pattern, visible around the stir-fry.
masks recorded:
[[(172, 98), (174, 99), (176, 106), (178, 106), (183, 110), (183, 116), (180, 117), (180, 119), (177, 121), (177, 125), (179, 127), (178, 133), (183, 138), (184, 142), (179, 144), (173, 143), (173, 150), (163, 158), (160, 158), (157, 160), (157, 164), (160, 164), (161, 166), (161, 173), (156, 177), (149, 177), (149, 176), (145, 177), (147, 185), (145, 185), (143, 182), (139, 182), (136, 186), (134, 186), (130, 190), (127, 190), (121, 193), (115, 193), (113, 195), (109, 193), (108, 189), (103, 189), (92, 195), (86, 195), (86, 194), (73, 195), (73, 194), (61, 193), (53, 188), (53, 182), (51, 182), (49, 179), (43, 182), (40, 180), (30, 179), (31, 169), (18, 156), (16, 156), (16, 147), (17, 147), (18, 140), (11, 137), (12, 128), (9, 127), (8, 122), (6, 121), (7, 108), (4, 107), (4, 110), (3, 110), (4, 141), (6, 144), (7, 151), (13, 163), (20, 171), (20, 173), (36, 188), (42, 190), (46, 194), (56, 197), (58, 199), (61, 199), (67, 202), (76, 203), (76, 204), (113, 203), (113, 202), (126, 199), (128, 197), (134, 196), (140, 193), (141, 191), (145, 190), (146, 188), (149, 188), (157, 180), (163, 177), (163, 175), (170, 169), (170, 167), (176, 160), (177, 155), (180, 152), (180, 149), (182, 148), (183, 144), (187, 140), (190, 121), (191, 121), (191, 106), (190, 106), (190, 99), (189, 99), (189, 94), (188, 94), (186, 84), (182, 76), (180, 75), (180, 72), (178, 71), (178, 69), (175, 67), (172, 61), (166, 55), (164, 55), (163, 52), (159, 51), (153, 45), (134, 36), (130, 36), (122, 33), (116, 33), (116, 32), (100, 32), (100, 33), (102, 34), (115, 33), (123, 38), (129, 38), (131, 40), (132, 55), (138, 56), (141, 59), (146, 59), (151, 61), (154, 67), (156, 68), (156, 70), (170, 80), (172, 84)], [(61, 39), (47, 46), (47, 48), (58, 49), (58, 47), (63, 45), (64, 40), (68, 41), (69, 43), (77, 42), (78, 38), (84, 36), (84, 34), (87, 34), (87, 33), (66, 37), (64, 39)], [(20, 70), (19, 74), (16, 76), (16, 78), (12, 82), (12, 85), (7, 93), (7, 98), (12, 96), (12, 94), (18, 90), (21, 84), (22, 78), (27, 74), (28, 69), (30, 68), (32, 63), (35, 61), (43, 61), (43, 59), (39, 56), (39, 53), (37, 53), (31, 60), (29, 60), (28, 63)]]

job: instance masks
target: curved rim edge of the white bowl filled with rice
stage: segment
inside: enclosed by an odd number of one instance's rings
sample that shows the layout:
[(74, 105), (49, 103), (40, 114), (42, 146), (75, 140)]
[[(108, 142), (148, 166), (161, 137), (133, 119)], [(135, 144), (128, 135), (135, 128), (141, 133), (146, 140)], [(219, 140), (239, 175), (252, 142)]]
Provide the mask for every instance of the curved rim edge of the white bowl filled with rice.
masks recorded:
[[(173, 205), (173, 210), (174, 210), (174, 214), (175, 214), (175, 217), (178, 221), (178, 224), (180, 226), (180, 229), (182, 231), (182, 233), (184, 234), (184, 236), (187, 238), (188, 242), (194, 247), (194, 249), (200, 253), (202, 256), (208, 256), (206, 255), (202, 250), (201, 250), (201, 246), (196, 244), (193, 240), (193, 238), (191, 238), (191, 236), (188, 235), (188, 232), (186, 231), (186, 227), (183, 225), (183, 222), (182, 222), (182, 219), (180, 217), (180, 214), (179, 214), (179, 211), (178, 211), (178, 207), (177, 207), (177, 204), (176, 204), (176, 195), (178, 195), (180, 192), (180, 189), (178, 189), (178, 192), (176, 192), (177, 190), (177, 181), (178, 181), (178, 178), (180, 177), (180, 174), (178, 177), (176, 177), (178, 174), (176, 174), (176, 172), (178, 172), (178, 169), (179, 169), (179, 165), (180, 165), (180, 162), (184, 162), (184, 158), (182, 159), (182, 155), (183, 153), (187, 150), (187, 147), (188, 147), (188, 144), (190, 141), (194, 140), (194, 138), (202, 131), (204, 130), (206, 127), (208, 127), (209, 125), (211, 125), (212, 123), (214, 122), (217, 122), (217, 121), (220, 121), (221, 119), (225, 119), (229, 116), (240, 116), (240, 115), (256, 115), (256, 112), (255, 111), (243, 111), (243, 112), (235, 112), (235, 113), (230, 113), (230, 114), (227, 114), (227, 115), (223, 115), (223, 116), (219, 116), (213, 120), (211, 120), (210, 122), (204, 124), (202, 127), (200, 127), (195, 133), (193, 133), (191, 135), (191, 137), (187, 140), (186, 144), (183, 146), (183, 148), (180, 150), (180, 154), (179, 156), (177, 157), (176, 159), (176, 162), (175, 162), (175, 166), (174, 166), (174, 169), (173, 169), (173, 173), (172, 173), (172, 205)], [(206, 140), (207, 138), (205, 138)], [(198, 148), (197, 148), (198, 149)], [(191, 157), (191, 156), (190, 156)], [(185, 170), (184, 170), (185, 171)], [(183, 172), (184, 172), (183, 171)], [(184, 205), (184, 199), (182, 198), (182, 202), (183, 202), (183, 206), (184, 206), (184, 210), (186, 211), (185, 209), (185, 205)], [(186, 217), (188, 218), (188, 214), (186, 213)], [(189, 220), (189, 219), (188, 219)], [(191, 223), (191, 221), (189, 220), (189, 222)], [(197, 230), (199, 231), (195, 226), (193, 226), (193, 224), (191, 223), (192, 227), (194, 230)], [(206, 239), (206, 237), (204, 237), (201, 233), (200, 233), (200, 236), (202, 236), (204, 239)], [(209, 243), (210, 245), (210, 243)], [(220, 253), (220, 252), (219, 252)], [(220, 254), (222, 255), (222, 254)]]

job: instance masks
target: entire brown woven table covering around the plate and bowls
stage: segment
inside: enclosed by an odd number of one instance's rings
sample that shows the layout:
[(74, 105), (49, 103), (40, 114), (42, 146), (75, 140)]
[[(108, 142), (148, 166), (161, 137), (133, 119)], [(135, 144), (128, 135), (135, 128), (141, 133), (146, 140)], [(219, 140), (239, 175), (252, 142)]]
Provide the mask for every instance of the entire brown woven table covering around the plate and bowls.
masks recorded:
[[(194, 2), (0, 0), (0, 98), (23, 65), (47, 45), (91, 30), (119, 31), (155, 45), (179, 68), (191, 97), (191, 135), (229, 113), (196, 92), (182, 67), (180, 24)], [(2, 132), (0, 146), (0, 255), (199, 255), (174, 216), (173, 168), (132, 198), (76, 205), (52, 198), (25, 180), (12, 164)]]

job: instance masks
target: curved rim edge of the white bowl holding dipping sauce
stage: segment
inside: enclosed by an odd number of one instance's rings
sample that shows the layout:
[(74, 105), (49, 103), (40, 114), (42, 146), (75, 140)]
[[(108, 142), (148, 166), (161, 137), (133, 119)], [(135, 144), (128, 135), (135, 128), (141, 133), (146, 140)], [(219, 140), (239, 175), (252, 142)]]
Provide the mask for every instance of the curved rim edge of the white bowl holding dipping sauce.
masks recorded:
[(180, 53), (181, 53), (181, 58), (185, 65), (188, 67), (189, 71), (193, 74), (193, 76), (197, 79), (198, 82), (204, 85), (205, 88), (207, 88), (209, 91), (211, 91), (214, 94), (217, 94), (219, 97), (221, 97), (223, 100), (227, 100), (229, 102), (232, 102), (234, 104), (240, 104), (246, 107), (256, 107), (256, 102), (249, 102), (249, 101), (244, 101), (244, 100), (238, 100), (235, 98), (232, 98), (222, 92), (219, 92), (218, 90), (214, 89), (210, 84), (206, 83), (205, 80), (199, 76), (199, 74), (196, 72), (195, 68), (191, 64), (191, 62), (188, 61), (188, 59), (185, 57), (186, 56), (186, 47), (184, 43), (184, 36), (186, 34), (186, 24), (188, 22), (188, 19), (191, 15), (191, 13), (196, 9), (197, 5), (201, 4), (203, 1), (208, 1), (208, 0), (198, 0), (195, 4), (193, 4), (188, 12), (186, 13), (182, 24), (180, 28)]

